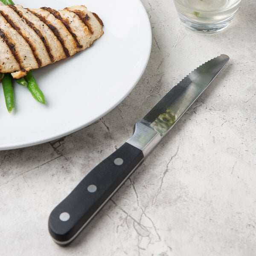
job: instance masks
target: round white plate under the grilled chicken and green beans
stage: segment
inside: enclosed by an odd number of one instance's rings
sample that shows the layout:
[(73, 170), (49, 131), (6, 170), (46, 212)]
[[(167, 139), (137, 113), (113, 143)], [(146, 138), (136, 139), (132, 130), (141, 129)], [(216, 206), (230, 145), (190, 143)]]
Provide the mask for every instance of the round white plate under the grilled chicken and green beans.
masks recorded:
[(15, 84), (15, 110), (0, 90), (0, 150), (55, 140), (104, 116), (134, 88), (151, 51), (151, 26), (140, 0), (15, 0), (23, 7), (87, 6), (104, 23), (92, 47), (34, 71), (47, 105)]

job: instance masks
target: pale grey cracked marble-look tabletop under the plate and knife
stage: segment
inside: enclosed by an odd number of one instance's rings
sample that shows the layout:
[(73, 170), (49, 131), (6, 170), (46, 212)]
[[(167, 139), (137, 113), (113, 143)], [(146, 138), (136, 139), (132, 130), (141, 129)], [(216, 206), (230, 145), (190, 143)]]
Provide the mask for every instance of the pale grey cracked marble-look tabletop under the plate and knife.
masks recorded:
[[(142, 0), (148, 66), (110, 113), (60, 140), (0, 151), (0, 255), (256, 255), (256, 4), (202, 35), (171, 0)], [(221, 74), (68, 247), (47, 229), (51, 210), (133, 133), (134, 123), (187, 73), (220, 54)]]

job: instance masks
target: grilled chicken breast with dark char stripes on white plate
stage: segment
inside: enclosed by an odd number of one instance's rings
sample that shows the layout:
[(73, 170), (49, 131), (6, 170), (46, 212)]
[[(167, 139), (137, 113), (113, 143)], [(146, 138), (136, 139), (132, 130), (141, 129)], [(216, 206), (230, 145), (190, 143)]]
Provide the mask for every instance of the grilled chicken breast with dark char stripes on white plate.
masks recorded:
[(19, 79), (74, 55), (103, 35), (102, 26), (85, 6), (56, 11), (0, 5), (0, 73)]

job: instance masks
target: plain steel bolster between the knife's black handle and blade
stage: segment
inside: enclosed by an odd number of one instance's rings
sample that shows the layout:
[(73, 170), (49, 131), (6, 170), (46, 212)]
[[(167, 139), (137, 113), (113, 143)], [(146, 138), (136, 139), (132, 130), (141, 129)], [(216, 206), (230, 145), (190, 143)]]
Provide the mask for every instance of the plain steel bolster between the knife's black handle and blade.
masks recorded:
[(139, 148), (146, 157), (154, 147), (160, 142), (161, 135), (153, 128), (137, 122), (133, 136), (127, 140), (127, 143)]

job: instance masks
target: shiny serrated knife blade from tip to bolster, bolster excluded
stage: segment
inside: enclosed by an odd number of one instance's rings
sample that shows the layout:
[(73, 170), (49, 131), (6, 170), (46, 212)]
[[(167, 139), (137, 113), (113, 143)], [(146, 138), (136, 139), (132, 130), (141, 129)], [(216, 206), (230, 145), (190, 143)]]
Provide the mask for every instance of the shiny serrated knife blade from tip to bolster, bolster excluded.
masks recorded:
[(177, 122), (229, 61), (220, 55), (201, 65), (178, 83), (140, 121), (161, 136)]

